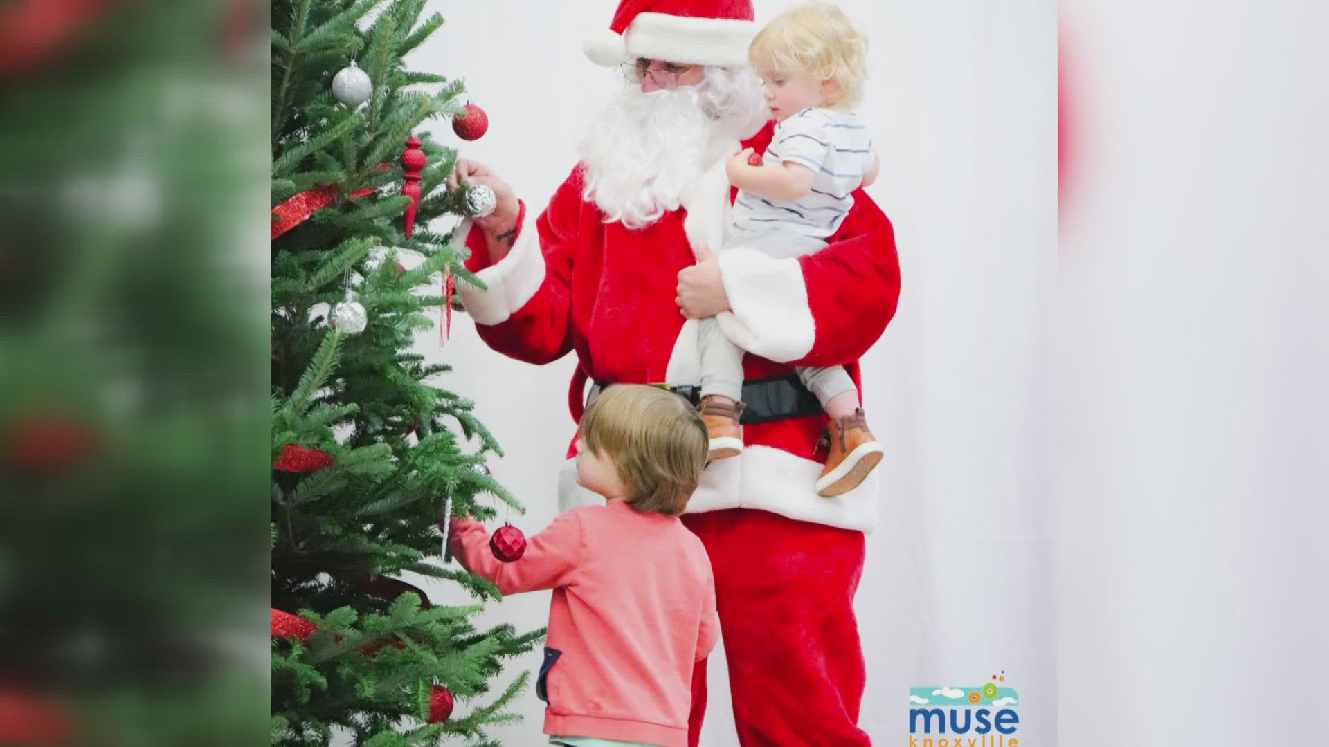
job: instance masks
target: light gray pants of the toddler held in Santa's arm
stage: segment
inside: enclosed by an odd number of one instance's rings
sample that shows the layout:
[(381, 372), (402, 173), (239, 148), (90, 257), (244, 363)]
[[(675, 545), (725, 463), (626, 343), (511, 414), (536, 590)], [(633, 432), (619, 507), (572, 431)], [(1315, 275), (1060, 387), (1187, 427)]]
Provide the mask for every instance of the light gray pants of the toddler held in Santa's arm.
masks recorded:
[[(731, 227), (724, 242), (726, 249), (730, 246), (746, 246), (771, 257), (787, 258), (812, 254), (825, 247), (825, 242), (793, 231), (747, 231)], [(702, 354), (702, 396), (719, 395), (734, 401), (743, 399), (743, 348), (724, 336), (714, 316), (700, 320), (698, 347)], [(843, 366), (800, 366), (795, 371), (803, 385), (817, 396), (823, 408), (836, 395), (857, 392)]]

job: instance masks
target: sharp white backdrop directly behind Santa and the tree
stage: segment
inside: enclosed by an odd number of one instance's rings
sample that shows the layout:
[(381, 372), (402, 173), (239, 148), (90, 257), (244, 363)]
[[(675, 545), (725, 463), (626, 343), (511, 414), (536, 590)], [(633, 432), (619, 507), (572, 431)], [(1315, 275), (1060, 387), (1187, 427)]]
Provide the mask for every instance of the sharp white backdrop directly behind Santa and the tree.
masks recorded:
[[(756, 3), (758, 20), (791, 3)], [(900, 3), (844, 0), (870, 39), (860, 116), (882, 177), (869, 190), (896, 226), (900, 311), (864, 359), (865, 400), (886, 445), (880, 528), (856, 607), (868, 661), (861, 726), (904, 743), (910, 686), (975, 685), (999, 670), (1021, 693), (1019, 732), (1054, 743), (1054, 524), (1046, 392), (1050, 284), (1055, 280), (1055, 44), (1049, 0)], [(411, 66), (464, 77), (489, 114), (461, 154), (489, 163), (533, 209), (575, 162), (574, 144), (615, 82), (581, 54), (587, 27), (607, 27), (614, 0), (435, 1), (447, 25)], [(528, 533), (554, 517), (554, 476), (573, 432), (569, 356), (509, 360), (455, 319), (444, 385), (474, 399), (506, 449), (494, 475), (526, 504)], [(453, 601), (448, 585), (428, 585)], [(548, 593), (516, 595), (482, 623), (545, 625)], [(710, 670), (702, 743), (735, 746), (723, 657)], [(510, 673), (536, 670), (540, 654)], [(508, 681), (505, 679), (504, 683)], [(797, 683), (791, 683), (797, 687)], [(496, 730), (504, 744), (540, 743), (541, 703)], [(462, 703), (462, 708), (465, 704)]]

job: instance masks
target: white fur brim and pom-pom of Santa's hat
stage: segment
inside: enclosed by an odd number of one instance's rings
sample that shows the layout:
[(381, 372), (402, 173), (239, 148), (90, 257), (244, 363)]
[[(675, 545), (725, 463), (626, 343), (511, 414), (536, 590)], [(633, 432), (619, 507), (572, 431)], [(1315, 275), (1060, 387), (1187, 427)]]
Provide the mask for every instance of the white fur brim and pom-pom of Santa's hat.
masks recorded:
[[(607, 35), (607, 36), (606, 36)], [(634, 57), (684, 65), (747, 65), (747, 48), (756, 36), (754, 21), (695, 19), (668, 13), (638, 13), (619, 41), (611, 31), (587, 35), (582, 49), (597, 65), (611, 66)], [(621, 47), (619, 47), (621, 44)]]

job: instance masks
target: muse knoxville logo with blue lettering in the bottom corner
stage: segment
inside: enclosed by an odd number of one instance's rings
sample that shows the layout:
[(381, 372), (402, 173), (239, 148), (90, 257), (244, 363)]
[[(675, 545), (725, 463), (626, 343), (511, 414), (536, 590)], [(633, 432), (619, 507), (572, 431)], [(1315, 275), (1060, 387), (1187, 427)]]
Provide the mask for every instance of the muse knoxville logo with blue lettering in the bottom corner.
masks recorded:
[(909, 747), (1019, 747), (1019, 693), (1006, 670), (973, 687), (910, 687)]

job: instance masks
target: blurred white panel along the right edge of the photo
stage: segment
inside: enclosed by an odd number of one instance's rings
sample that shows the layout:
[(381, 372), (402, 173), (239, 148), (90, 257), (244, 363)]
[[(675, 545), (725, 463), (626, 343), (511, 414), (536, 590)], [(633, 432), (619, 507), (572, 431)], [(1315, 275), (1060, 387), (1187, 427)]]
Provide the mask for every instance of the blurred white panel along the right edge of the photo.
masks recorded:
[(1324, 744), (1329, 4), (1062, 20), (1061, 739)]

